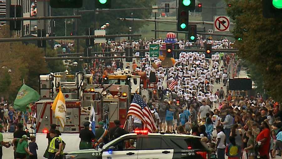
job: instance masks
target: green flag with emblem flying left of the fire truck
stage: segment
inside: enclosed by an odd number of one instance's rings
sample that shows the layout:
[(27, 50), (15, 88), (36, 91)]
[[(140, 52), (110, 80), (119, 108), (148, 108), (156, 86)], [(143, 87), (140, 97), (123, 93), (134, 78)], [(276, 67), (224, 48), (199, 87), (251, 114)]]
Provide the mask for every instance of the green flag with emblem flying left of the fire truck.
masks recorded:
[(40, 95), (36, 90), (32, 89), (27, 85), (23, 85), (18, 91), (17, 97), (14, 101), (15, 110), (26, 112), (26, 107), (29, 103), (39, 100)]

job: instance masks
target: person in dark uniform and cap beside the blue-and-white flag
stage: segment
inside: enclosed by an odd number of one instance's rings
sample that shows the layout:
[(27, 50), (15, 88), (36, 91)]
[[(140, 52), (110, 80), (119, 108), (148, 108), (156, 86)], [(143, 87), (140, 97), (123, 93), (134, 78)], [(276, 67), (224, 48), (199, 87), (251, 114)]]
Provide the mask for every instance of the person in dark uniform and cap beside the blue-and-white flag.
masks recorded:
[(81, 129), (79, 133), (79, 138), (81, 139), (79, 144), (79, 149), (80, 150), (91, 149), (92, 148), (91, 141), (92, 139), (95, 139), (95, 135), (91, 130), (89, 130), (89, 125), (90, 125), (89, 122), (85, 122), (83, 123), (83, 125), (84, 125), (84, 129)]

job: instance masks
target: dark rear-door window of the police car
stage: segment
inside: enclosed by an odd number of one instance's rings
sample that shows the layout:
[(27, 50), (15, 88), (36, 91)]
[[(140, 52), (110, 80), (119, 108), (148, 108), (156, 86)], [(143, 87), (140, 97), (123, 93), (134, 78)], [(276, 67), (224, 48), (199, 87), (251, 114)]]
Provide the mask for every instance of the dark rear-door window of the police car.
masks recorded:
[(161, 149), (161, 138), (143, 138), (142, 150), (156, 150)]

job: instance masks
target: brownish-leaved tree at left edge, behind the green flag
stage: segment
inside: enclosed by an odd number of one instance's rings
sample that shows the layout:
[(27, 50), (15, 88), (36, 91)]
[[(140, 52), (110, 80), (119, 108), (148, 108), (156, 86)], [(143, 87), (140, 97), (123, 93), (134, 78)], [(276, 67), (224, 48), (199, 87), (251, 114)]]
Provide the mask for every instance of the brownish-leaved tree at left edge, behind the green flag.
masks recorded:
[[(0, 38), (10, 36), (8, 28), (7, 25), (0, 28)], [(0, 76), (4, 77), (0, 80), (0, 95), (13, 101), (20, 86), (23, 85), (23, 80), (30, 87), (39, 90), (39, 74), (48, 73), (47, 63), (43, 58), (43, 50), (35, 45), (24, 45), (21, 42), (2, 42), (0, 48), (0, 69), (5, 68), (0, 71)], [(6, 68), (12, 71), (8, 75)], [(11, 81), (10, 84), (9, 80)], [(1, 87), (3, 83), (8, 85), (7, 89)]]

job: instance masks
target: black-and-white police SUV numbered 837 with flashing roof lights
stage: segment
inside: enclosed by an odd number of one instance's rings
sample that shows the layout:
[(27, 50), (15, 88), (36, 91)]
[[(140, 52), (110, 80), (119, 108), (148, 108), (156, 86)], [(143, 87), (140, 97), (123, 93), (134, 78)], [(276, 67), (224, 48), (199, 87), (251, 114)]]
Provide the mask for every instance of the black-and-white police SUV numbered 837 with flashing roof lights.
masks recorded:
[(208, 147), (199, 136), (136, 130), (110, 141), (100, 150), (68, 152), (65, 159), (207, 159), (208, 156)]

